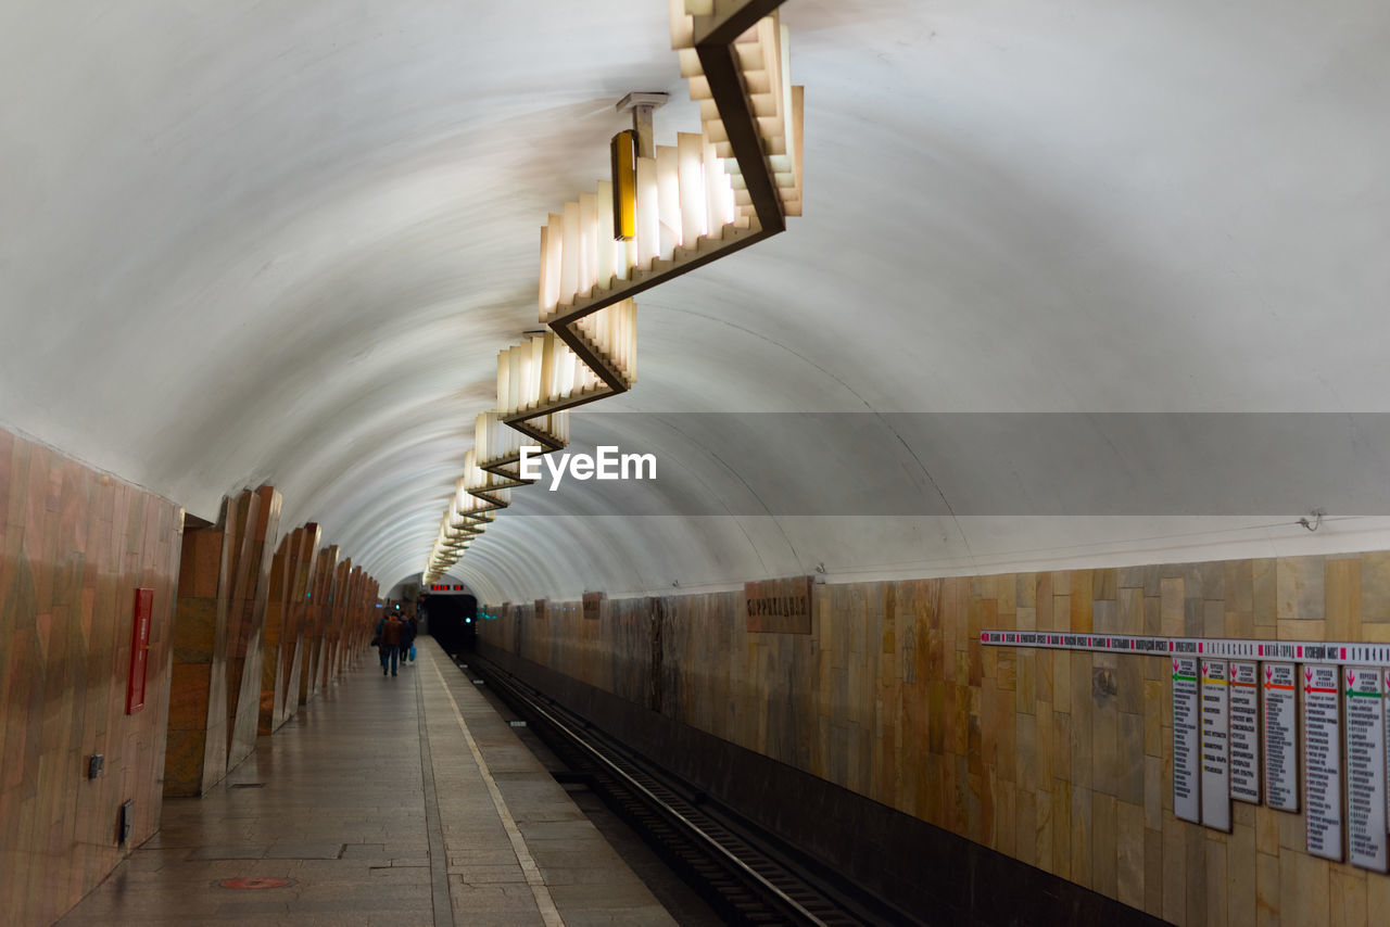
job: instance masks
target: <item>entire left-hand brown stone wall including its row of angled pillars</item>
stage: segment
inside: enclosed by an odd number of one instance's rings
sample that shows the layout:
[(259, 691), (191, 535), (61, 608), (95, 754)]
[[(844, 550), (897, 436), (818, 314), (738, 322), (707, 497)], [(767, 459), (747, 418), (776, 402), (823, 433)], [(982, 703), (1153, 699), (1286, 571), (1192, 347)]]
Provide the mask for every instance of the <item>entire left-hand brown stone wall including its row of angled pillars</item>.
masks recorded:
[[(303, 655), (317, 692), (367, 653), (370, 575), (345, 566), (324, 585), (331, 662), (322, 617), (304, 617), (310, 564), (338, 556), (316, 553), (317, 525), (293, 532), (292, 573), (271, 582), (279, 504), (247, 491), (185, 534), (172, 502), (0, 429), (0, 924), (57, 920), (154, 834), (163, 794), (197, 795), (247, 756), (261, 703), (275, 727), (300, 703)], [(153, 613), (145, 707), (126, 714), (138, 588)]]

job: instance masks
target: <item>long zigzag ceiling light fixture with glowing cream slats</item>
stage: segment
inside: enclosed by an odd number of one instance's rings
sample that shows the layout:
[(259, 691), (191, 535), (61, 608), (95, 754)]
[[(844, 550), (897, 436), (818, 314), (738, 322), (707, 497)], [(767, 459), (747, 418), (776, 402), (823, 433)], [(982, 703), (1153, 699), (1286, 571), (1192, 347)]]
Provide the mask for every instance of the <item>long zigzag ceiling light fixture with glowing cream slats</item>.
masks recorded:
[(801, 215), (802, 88), (791, 83), (781, 0), (669, 1), (701, 131), (653, 145), (651, 111), (664, 96), (630, 95), (619, 108), (632, 110), (634, 126), (613, 138), (613, 177), (549, 214), (538, 295), (546, 331), (498, 353), (496, 409), (474, 423), (424, 582), (443, 577), (525, 485), (523, 445), (564, 448), (571, 409), (637, 382), (634, 296)]

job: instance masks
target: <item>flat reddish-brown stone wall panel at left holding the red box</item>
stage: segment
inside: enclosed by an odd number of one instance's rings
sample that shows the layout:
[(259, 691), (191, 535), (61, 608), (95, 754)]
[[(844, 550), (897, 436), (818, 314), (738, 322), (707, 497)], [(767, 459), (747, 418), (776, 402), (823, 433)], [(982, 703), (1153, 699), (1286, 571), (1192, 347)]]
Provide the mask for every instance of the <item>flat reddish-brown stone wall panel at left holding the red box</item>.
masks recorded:
[[(53, 923), (158, 827), (182, 525), (172, 502), (0, 429), (0, 923)], [(154, 607), (126, 714), (136, 588)]]

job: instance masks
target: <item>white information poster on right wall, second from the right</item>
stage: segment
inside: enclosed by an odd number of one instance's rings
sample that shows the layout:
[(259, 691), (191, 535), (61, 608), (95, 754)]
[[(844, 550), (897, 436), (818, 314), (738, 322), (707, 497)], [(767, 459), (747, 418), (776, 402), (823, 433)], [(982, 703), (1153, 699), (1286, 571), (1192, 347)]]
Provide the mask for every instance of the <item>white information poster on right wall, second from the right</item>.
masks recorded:
[(1308, 852), (1341, 860), (1341, 698), (1336, 666), (1302, 664)]

